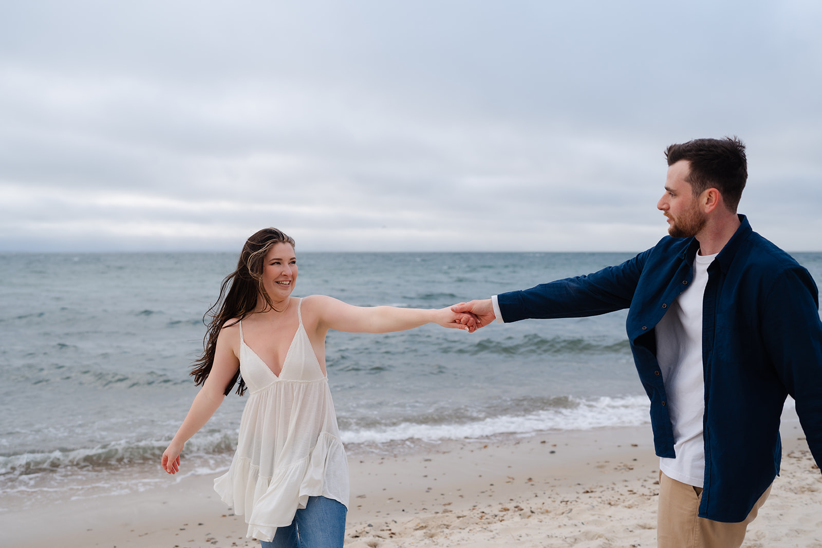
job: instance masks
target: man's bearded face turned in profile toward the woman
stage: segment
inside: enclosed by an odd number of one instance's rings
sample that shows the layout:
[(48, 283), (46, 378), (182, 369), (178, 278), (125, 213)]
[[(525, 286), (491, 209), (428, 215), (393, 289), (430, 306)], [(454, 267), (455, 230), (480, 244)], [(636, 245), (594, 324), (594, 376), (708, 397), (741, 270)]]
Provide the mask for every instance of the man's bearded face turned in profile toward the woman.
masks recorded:
[(680, 160), (668, 168), (665, 194), (657, 202), (657, 209), (668, 219), (668, 234), (672, 237), (691, 237), (705, 226), (705, 214), (700, 210), (699, 196), (686, 181), (690, 172), (687, 160)]

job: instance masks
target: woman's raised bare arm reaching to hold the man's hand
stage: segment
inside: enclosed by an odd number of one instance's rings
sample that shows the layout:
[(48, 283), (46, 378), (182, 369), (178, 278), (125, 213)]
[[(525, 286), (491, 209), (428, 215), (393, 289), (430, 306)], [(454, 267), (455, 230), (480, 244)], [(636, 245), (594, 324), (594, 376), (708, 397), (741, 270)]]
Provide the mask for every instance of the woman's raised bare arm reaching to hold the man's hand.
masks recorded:
[(454, 312), (447, 307), (423, 309), (353, 306), (325, 295), (312, 295), (307, 297), (306, 302), (316, 313), (317, 324), (321, 329), (337, 329), (349, 333), (389, 333), (434, 323), (473, 332), (477, 327), (473, 314)]

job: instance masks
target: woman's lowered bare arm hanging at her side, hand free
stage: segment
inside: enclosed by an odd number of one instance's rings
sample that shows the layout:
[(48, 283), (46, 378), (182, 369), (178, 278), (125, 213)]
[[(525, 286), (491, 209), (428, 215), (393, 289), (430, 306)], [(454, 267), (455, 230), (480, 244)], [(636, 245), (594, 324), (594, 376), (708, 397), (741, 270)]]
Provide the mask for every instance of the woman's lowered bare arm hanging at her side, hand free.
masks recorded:
[[(230, 320), (229, 320), (230, 323)], [(223, 403), (225, 387), (237, 373), (240, 361), (237, 357), (239, 349), (235, 351), (234, 339), (239, 343), (240, 335), (238, 325), (232, 325), (222, 329), (217, 338), (217, 348), (214, 357), (214, 365), (208, 379), (205, 380), (200, 392), (197, 393), (192, 403), (192, 408), (188, 410), (186, 419), (182, 421), (182, 426), (174, 435), (168, 449), (163, 453), (162, 466), (169, 474), (177, 473), (180, 469), (180, 453), (186, 442), (199, 431), (205, 423), (214, 415)], [(238, 346), (238, 344), (236, 345)]]

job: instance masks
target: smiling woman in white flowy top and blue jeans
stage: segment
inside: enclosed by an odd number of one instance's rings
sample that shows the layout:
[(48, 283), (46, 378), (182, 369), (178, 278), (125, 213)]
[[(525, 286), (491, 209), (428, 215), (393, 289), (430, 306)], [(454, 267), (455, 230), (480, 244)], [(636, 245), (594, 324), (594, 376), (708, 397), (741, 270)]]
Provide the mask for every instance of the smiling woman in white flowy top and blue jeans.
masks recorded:
[(326, 376), (326, 333), (386, 333), (429, 322), (473, 331), (475, 319), (448, 308), (359, 307), (323, 295), (291, 297), (296, 281), (291, 237), (264, 228), (248, 238), (237, 269), (220, 288), (205, 351), (192, 371), (202, 389), (162, 465), (178, 472), (186, 441), (239, 380), (238, 394), (251, 394), (237, 453), (215, 490), (245, 516), (247, 536), (261, 539), (263, 548), (341, 547), (349, 474)]

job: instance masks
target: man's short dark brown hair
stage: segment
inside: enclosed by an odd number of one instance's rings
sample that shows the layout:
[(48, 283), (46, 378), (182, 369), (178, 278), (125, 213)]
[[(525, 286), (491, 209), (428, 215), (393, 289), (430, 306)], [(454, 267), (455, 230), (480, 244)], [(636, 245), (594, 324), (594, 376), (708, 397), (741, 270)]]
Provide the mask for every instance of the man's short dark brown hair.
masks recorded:
[(724, 139), (694, 139), (681, 145), (671, 145), (665, 150), (669, 166), (680, 160), (690, 163), (686, 181), (699, 196), (708, 188), (722, 194), (728, 210), (737, 213), (742, 189), (748, 180), (748, 161), (745, 143), (737, 136)]

